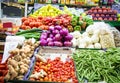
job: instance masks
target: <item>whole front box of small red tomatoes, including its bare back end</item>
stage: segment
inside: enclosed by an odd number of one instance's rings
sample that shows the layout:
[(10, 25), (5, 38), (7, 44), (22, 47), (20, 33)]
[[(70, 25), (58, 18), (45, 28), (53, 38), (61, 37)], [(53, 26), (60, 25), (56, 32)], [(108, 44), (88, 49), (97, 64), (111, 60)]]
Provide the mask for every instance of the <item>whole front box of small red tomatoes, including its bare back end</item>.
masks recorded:
[[(72, 60), (71, 56), (69, 56), (70, 53), (67, 52), (69, 50), (67, 49), (67, 51), (65, 50), (64, 52), (63, 49), (49, 49), (48, 47), (39, 49), (39, 53), (36, 55), (36, 63), (29, 80), (43, 83), (78, 83), (74, 61)], [(59, 53), (56, 52), (56, 50), (60, 50)]]

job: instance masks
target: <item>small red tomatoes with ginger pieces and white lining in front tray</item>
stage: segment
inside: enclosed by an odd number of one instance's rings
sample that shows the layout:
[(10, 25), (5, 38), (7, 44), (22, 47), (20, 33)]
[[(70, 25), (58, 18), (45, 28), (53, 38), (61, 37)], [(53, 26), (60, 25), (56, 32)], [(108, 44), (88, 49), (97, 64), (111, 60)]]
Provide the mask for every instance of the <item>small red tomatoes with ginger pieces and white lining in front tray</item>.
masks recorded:
[[(52, 54), (51, 54), (52, 55)], [(73, 59), (66, 55), (57, 55), (53, 58), (36, 55), (36, 63), (30, 80), (41, 82), (73, 82), (78, 83), (75, 76)], [(47, 56), (48, 57), (48, 56)], [(66, 58), (65, 58), (66, 57)], [(65, 61), (63, 61), (64, 59)]]

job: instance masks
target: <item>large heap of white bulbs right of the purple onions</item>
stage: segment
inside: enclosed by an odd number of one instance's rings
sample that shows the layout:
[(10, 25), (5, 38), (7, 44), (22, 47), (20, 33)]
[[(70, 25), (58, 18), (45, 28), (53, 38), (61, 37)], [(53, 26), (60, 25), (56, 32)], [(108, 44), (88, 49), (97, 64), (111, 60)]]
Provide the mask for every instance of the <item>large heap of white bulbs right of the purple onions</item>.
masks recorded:
[(115, 47), (113, 34), (104, 22), (96, 22), (86, 28), (81, 34), (79, 31), (71, 33), (73, 35), (73, 47), (79, 48), (109, 48)]

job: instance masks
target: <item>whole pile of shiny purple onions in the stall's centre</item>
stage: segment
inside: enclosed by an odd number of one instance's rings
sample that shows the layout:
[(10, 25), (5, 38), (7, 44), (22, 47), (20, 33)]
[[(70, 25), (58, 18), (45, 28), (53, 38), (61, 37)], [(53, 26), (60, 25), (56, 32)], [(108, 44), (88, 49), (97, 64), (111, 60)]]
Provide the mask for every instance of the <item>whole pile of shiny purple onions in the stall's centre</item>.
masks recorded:
[(73, 36), (69, 33), (68, 29), (62, 28), (59, 25), (50, 26), (48, 31), (41, 34), (41, 46), (58, 46), (58, 47), (71, 47)]

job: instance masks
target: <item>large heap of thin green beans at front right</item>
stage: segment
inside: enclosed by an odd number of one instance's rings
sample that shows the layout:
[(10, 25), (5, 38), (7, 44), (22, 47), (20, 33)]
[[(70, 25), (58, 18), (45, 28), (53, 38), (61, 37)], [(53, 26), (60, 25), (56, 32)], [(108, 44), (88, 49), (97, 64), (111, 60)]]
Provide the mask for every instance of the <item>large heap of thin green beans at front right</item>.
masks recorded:
[(73, 59), (79, 81), (120, 83), (120, 48), (76, 50)]

